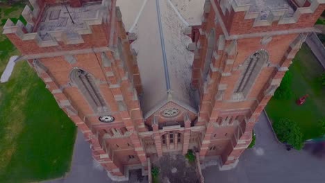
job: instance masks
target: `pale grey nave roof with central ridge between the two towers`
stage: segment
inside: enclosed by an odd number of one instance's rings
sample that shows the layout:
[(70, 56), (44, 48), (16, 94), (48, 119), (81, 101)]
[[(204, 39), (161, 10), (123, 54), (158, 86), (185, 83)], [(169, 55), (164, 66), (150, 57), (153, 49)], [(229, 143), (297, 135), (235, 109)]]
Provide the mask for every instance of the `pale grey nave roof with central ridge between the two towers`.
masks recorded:
[[(199, 22), (194, 17), (203, 13), (204, 1), (200, 1), (201, 6), (196, 8), (201, 12), (193, 11), (194, 14), (189, 12), (190, 7), (194, 7), (198, 1), (117, 1), (126, 30), (137, 35), (131, 47), (137, 53), (144, 91), (141, 104), (145, 117), (170, 100), (197, 112), (190, 89), (194, 54), (187, 49), (192, 40), (183, 32), (189, 24)], [(178, 8), (182, 10), (178, 11)]]

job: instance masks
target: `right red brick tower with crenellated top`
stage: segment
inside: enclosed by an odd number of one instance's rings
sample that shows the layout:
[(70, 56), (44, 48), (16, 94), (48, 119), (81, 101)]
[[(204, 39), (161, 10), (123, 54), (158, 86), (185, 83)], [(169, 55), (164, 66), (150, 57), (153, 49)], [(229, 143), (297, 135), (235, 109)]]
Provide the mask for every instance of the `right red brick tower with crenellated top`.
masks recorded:
[(231, 168), (292, 58), (323, 12), (322, 0), (206, 0), (193, 63), (197, 125), (206, 125), (201, 159)]

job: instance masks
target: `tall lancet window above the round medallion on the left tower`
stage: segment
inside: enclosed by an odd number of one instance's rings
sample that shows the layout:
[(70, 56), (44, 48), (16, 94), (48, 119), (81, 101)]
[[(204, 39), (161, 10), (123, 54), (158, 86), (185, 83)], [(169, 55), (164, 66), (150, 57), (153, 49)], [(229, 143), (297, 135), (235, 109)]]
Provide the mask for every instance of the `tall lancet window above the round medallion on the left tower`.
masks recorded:
[(70, 79), (80, 89), (95, 113), (107, 112), (108, 107), (94, 82), (94, 77), (82, 69), (73, 69)]

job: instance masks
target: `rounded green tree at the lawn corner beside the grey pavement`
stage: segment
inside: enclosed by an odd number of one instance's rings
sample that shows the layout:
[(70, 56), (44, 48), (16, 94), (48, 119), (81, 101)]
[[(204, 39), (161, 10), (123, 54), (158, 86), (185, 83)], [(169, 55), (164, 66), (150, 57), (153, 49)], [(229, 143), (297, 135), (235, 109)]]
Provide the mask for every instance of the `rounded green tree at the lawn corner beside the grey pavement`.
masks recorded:
[(302, 136), (301, 130), (297, 123), (290, 119), (280, 119), (273, 123), (276, 136), (282, 142), (290, 144), (297, 150), (302, 148)]

